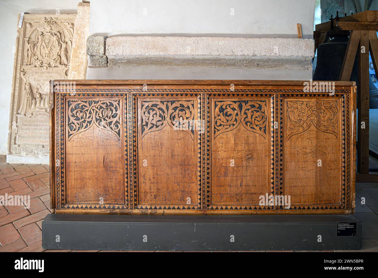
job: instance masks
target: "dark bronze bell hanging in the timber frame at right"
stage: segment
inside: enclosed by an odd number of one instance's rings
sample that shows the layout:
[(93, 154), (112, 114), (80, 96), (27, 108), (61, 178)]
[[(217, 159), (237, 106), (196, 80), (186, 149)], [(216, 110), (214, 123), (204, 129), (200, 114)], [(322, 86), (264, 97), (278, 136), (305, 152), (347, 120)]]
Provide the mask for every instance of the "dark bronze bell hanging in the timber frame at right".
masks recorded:
[[(313, 80), (337, 81), (344, 61), (345, 51), (348, 45), (348, 35), (334, 35), (333, 39), (318, 46), (318, 58)], [(350, 81), (358, 82), (358, 60), (357, 55), (353, 65)], [(358, 92), (357, 92), (358, 93)], [(369, 77), (369, 108), (378, 108), (378, 89), (375, 87), (372, 78)]]

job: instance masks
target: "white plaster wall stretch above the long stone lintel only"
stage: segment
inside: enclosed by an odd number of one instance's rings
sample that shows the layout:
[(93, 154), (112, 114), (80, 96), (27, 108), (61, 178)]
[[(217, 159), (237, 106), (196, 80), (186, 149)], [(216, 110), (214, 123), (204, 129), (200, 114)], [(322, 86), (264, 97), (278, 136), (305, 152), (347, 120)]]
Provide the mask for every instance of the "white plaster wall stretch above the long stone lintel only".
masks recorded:
[[(315, 0), (91, 0), (91, 35), (313, 37)], [(230, 10), (234, 9), (234, 16)]]

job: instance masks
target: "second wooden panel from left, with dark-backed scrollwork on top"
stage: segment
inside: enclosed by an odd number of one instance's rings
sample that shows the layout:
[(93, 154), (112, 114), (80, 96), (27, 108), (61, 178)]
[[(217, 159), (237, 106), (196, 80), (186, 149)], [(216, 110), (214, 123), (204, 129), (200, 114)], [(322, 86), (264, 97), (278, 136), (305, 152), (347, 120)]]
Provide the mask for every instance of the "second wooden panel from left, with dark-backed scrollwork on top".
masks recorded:
[(200, 208), (197, 96), (136, 97), (136, 208)]

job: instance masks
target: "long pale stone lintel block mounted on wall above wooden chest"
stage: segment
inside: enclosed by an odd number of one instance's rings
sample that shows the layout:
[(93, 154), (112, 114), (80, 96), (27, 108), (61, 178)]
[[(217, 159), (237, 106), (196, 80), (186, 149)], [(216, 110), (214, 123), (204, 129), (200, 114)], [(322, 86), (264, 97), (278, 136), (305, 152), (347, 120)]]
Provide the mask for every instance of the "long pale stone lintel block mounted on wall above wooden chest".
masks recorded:
[(109, 37), (108, 67), (229, 67), (311, 70), (313, 39)]

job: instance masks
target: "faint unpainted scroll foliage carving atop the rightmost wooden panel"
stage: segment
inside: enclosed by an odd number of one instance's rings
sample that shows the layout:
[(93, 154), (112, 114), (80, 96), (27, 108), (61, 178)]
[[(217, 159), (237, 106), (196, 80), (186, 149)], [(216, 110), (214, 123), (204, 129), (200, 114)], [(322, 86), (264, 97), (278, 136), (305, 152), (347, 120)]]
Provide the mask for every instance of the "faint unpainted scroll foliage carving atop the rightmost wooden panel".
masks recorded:
[(337, 101), (287, 101), (288, 139), (310, 126), (337, 137)]

